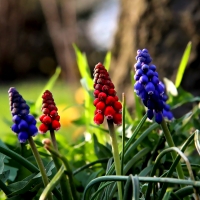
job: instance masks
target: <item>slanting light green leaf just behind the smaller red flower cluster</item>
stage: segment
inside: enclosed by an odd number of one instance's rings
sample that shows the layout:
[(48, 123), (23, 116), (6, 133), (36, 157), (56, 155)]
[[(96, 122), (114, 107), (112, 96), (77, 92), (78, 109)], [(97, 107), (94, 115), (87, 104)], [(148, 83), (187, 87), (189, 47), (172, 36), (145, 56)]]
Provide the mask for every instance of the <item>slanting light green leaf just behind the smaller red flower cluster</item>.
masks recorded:
[(38, 110), (40, 109), (40, 107), (42, 105), (42, 95), (43, 95), (44, 91), (52, 89), (52, 87), (54, 86), (56, 80), (58, 79), (58, 77), (60, 75), (60, 72), (61, 72), (61, 68), (57, 67), (54, 75), (49, 79), (49, 81), (47, 82), (47, 84), (42, 89), (40, 95), (38, 96), (38, 98), (37, 98), (37, 100), (35, 102), (35, 112), (36, 113), (38, 112)]

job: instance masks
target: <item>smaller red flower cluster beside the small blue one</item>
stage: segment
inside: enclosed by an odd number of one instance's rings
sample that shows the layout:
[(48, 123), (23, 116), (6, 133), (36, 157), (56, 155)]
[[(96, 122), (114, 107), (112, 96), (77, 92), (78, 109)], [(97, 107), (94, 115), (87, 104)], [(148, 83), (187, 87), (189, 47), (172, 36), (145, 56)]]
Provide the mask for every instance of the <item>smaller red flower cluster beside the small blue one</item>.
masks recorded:
[(48, 130), (60, 129), (60, 116), (58, 115), (58, 109), (55, 105), (52, 93), (48, 90), (42, 95), (42, 113), (40, 121), (42, 124), (39, 126), (40, 133), (46, 133)]

